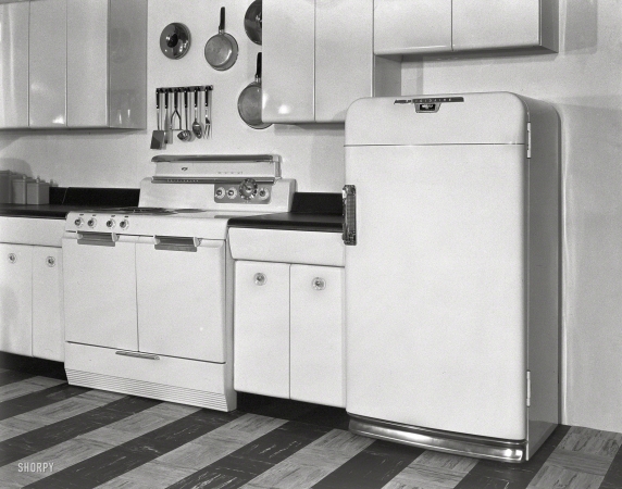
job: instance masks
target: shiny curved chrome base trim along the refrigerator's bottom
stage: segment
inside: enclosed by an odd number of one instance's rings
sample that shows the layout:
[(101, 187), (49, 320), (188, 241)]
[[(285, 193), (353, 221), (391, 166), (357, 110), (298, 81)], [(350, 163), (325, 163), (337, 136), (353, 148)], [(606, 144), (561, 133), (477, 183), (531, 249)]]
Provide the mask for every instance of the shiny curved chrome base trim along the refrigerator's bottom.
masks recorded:
[(357, 435), (498, 462), (521, 463), (527, 460), (527, 440), (463, 435), (348, 414), (350, 431)]

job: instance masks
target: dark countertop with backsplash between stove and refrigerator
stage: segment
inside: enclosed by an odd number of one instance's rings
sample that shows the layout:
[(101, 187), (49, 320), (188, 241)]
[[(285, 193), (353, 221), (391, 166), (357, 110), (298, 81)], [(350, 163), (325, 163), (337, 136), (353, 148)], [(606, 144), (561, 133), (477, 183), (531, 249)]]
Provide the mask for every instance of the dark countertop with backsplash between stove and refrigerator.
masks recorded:
[(341, 233), (340, 193), (296, 192), (290, 212), (231, 218), (229, 227)]

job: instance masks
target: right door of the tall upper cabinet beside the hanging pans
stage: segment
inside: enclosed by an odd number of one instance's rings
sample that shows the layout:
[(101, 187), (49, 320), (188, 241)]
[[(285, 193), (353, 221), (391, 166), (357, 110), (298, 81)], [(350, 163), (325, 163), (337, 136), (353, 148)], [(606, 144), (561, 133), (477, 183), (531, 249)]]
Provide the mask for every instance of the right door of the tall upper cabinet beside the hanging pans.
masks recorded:
[(372, 97), (373, 0), (315, 1), (315, 122), (343, 122)]

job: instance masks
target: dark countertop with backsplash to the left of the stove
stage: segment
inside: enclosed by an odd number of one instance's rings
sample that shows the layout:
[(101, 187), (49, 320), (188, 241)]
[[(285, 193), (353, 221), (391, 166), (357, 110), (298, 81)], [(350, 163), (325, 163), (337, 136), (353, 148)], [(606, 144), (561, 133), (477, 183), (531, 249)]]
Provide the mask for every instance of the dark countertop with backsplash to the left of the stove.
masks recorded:
[(138, 205), (139, 193), (137, 188), (51, 187), (49, 204), (0, 203), (0, 215), (64, 220), (71, 211)]

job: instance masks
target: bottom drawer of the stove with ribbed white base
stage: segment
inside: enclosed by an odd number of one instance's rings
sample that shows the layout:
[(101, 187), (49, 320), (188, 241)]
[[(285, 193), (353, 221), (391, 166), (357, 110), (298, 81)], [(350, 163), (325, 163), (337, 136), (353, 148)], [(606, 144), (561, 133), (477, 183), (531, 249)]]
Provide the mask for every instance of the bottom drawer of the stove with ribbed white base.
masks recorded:
[[(119, 354), (120, 352), (121, 354)], [(161, 399), (220, 411), (235, 409), (225, 364), (65, 343), (71, 385)]]

